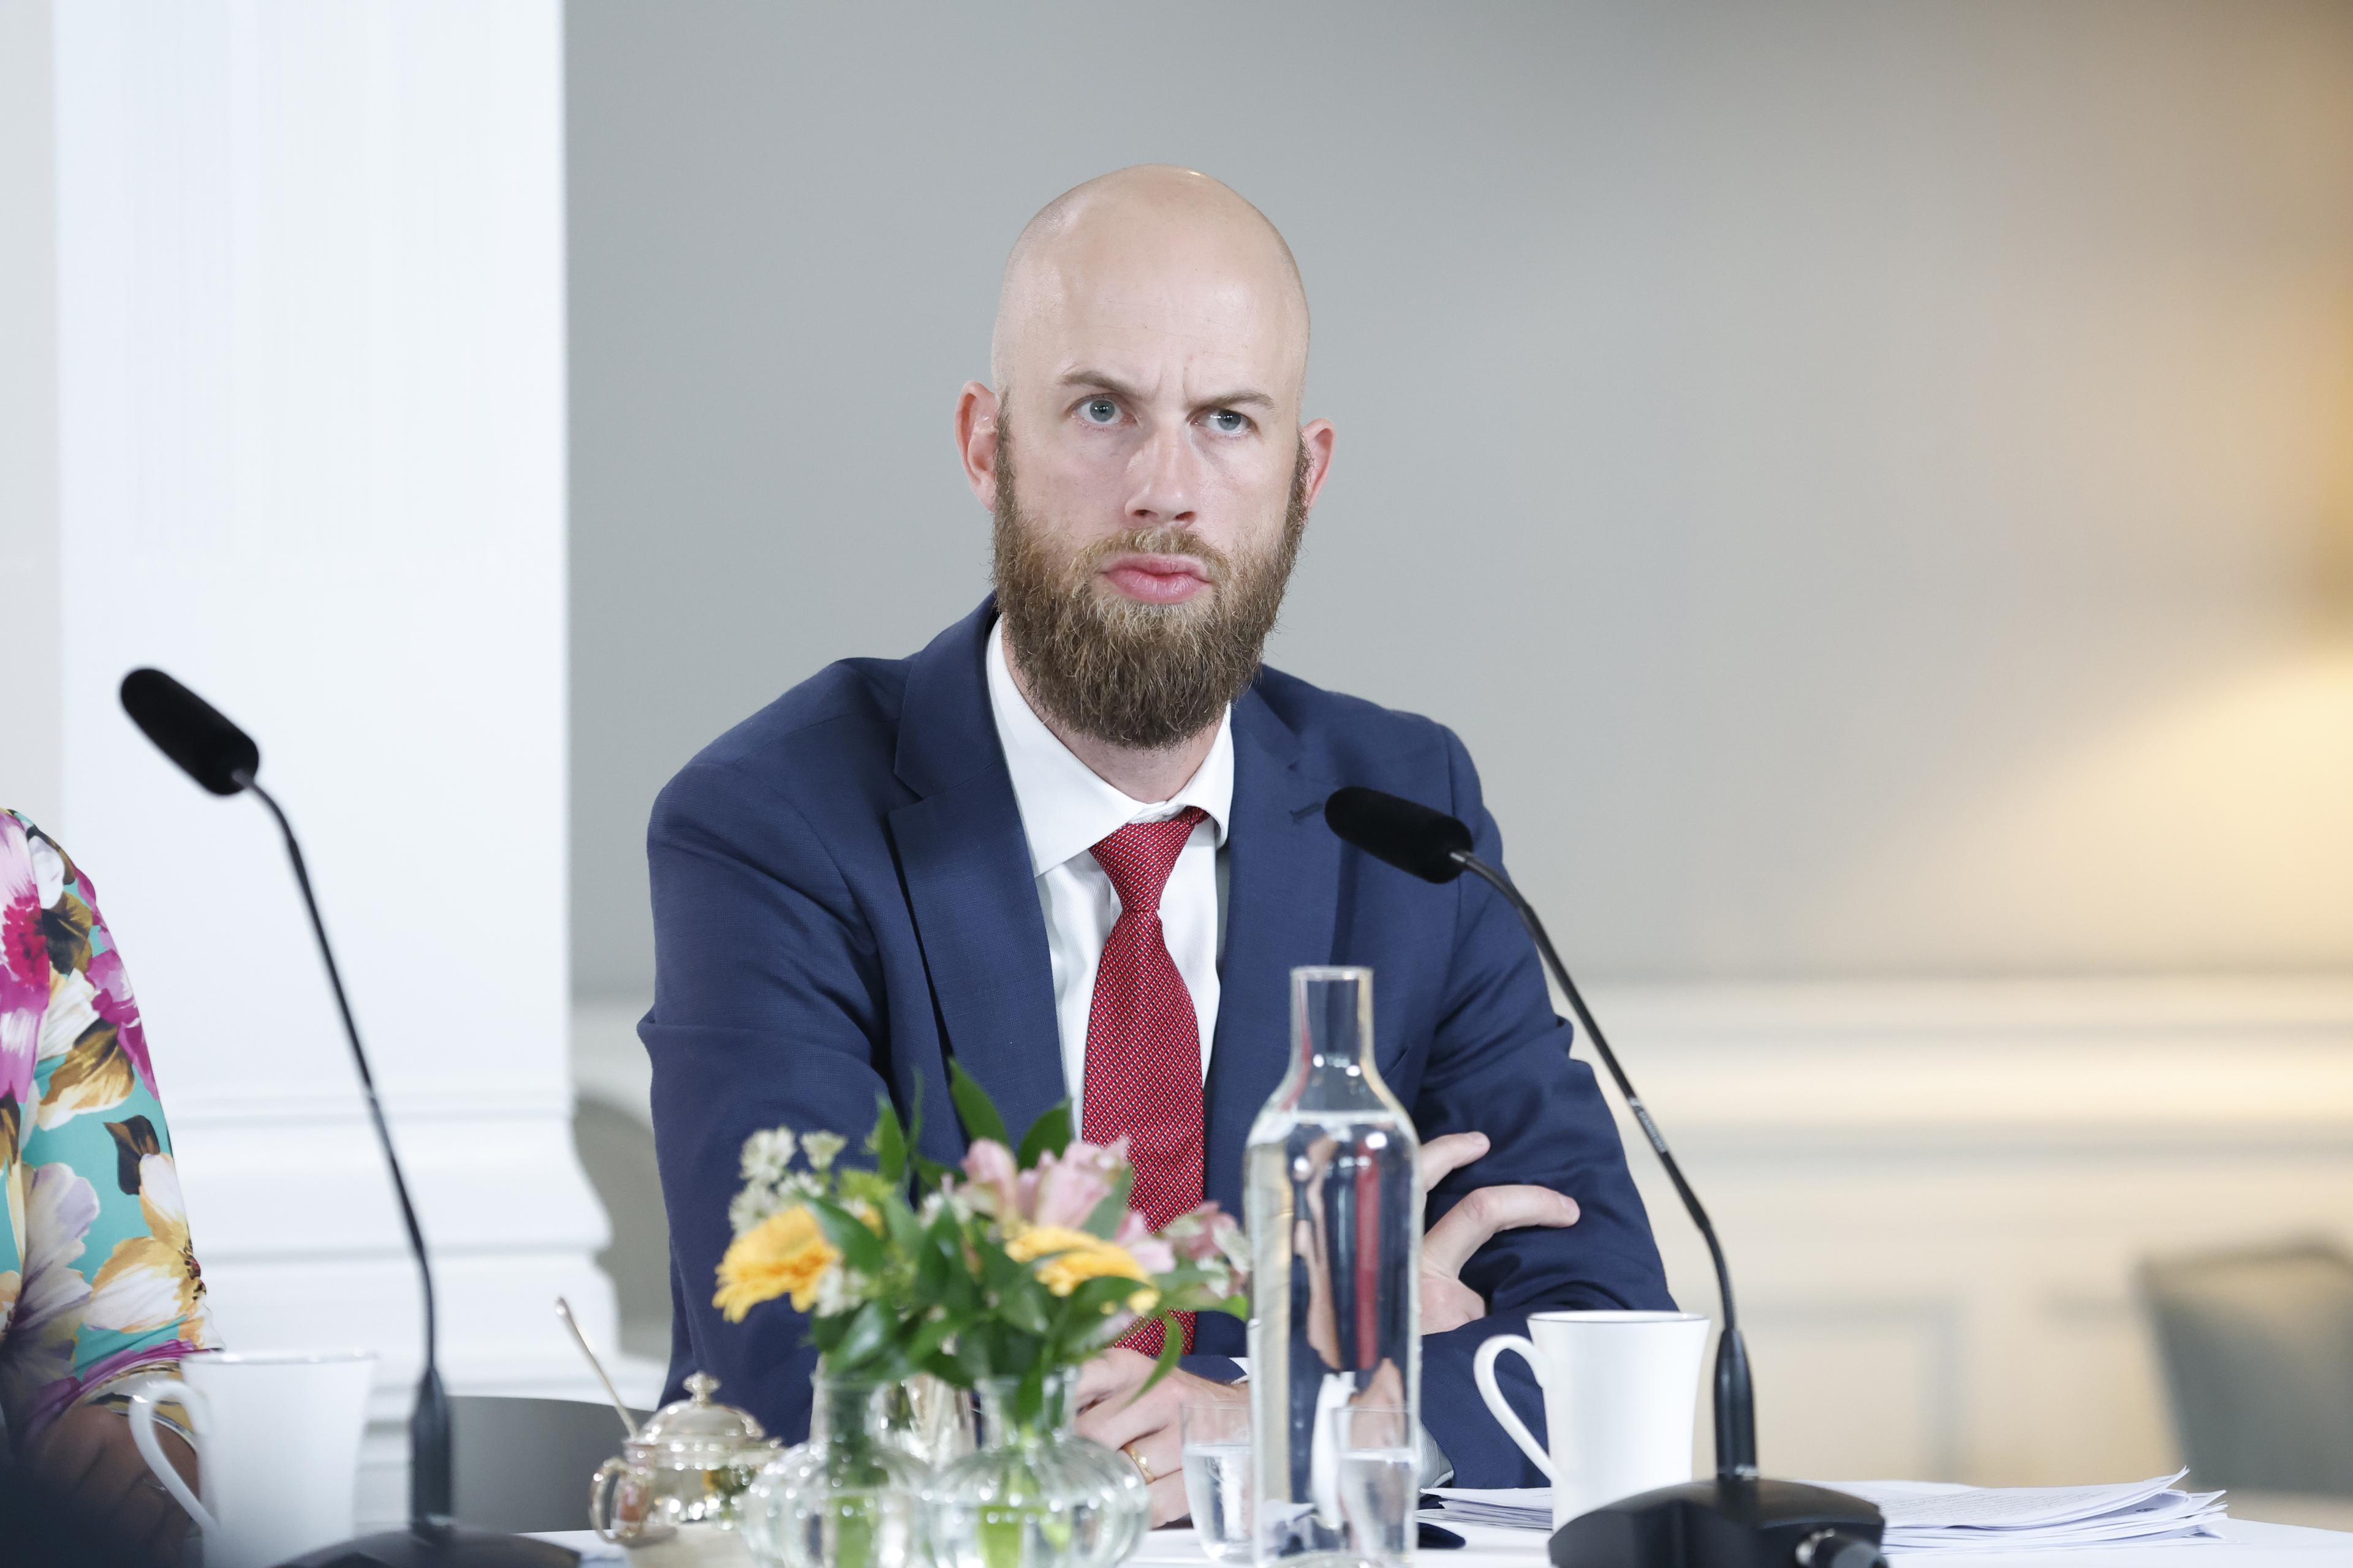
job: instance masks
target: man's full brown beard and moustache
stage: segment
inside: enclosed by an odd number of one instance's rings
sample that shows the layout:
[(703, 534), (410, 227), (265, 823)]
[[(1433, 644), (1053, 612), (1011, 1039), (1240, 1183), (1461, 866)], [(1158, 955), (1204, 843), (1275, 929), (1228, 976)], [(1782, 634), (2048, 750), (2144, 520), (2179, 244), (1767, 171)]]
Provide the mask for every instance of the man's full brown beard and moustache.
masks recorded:
[[(1308, 527), (1308, 449), (1299, 444), (1282, 536), (1228, 557), (1191, 529), (1132, 529), (1064, 557), (1021, 512), (1012, 433), (998, 435), (995, 581), (1005, 642), (1047, 717), (1108, 745), (1165, 750), (1217, 722), (1259, 672)], [(1188, 555), (1209, 588), (1144, 604), (1096, 585), (1120, 555)]]

